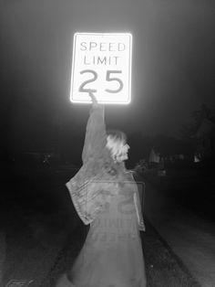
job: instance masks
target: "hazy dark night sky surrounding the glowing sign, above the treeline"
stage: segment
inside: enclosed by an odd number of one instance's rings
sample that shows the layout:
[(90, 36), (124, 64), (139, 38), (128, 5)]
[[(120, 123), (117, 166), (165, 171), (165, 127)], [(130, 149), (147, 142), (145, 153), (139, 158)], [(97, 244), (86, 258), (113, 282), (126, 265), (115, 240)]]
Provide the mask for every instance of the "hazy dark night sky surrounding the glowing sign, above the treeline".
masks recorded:
[[(133, 35), (132, 101), (107, 106), (107, 126), (178, 135), (215, 104), (213, 0), (1, 0), (1, 124), (15, 146), (83, 135), (88, 105), (69, 101), (75, 32)], [(65, 132), (64, 132), (65, 131)], [(55, 137), (55, 136), (54, 136)]]

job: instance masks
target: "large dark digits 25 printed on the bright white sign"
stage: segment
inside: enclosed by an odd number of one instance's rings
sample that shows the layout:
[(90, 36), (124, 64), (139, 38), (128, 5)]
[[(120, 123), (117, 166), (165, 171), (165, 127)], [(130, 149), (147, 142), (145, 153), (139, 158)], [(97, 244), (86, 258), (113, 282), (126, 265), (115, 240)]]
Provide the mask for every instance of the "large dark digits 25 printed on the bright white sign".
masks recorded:
[[(120, 90), (123, 89), (123, 82), (122, 82), (122, 80), (120, 80), (120, 79), (118, 79), (118, 78), (111, 78), (111, 74), (114, 74), (114, 73), (116, 73), (116, 74), (118, 73), (118, 74), (119, 74), (119, 73), (121, 73), (121, 72), (122, 72), (121, 70), (107, 70), (106, 80), (107, 80), (107, 81), (113, 81), (113, 80), (115, 80), (115, 81), (118, 82), (118, 89), (117, 89), (117, 90), (109, 90), (109, 89), (106, 89), (107, 92), (117, 93), (117, 92), (119, 92)], [(84, 88), (88, 83), (97, 80), (97, 72), (96, 72), (95, 70), (93, 70), (93, 69), (84, 69), (84, 70), (80, 71), (80, 74), (84, 74), (84, 73), (91, 73), (91, 74), (93, 74), (93, 78), (84, 81), (84, 82), (80, 85), (79, 91), (81, 91), (81, 92), (90, 92), (90, 91), (91, 91), (91, 92), (97, 92), (97, 90), (85, 89), (85, 88)]]

